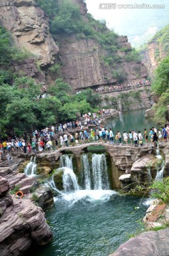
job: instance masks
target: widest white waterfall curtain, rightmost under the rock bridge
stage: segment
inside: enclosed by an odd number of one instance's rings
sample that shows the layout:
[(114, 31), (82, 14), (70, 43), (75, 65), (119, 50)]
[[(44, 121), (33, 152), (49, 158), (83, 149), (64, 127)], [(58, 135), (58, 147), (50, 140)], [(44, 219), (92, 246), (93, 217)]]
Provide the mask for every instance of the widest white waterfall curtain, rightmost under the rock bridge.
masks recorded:
[(92, 155), (92, 175), (94, 190), (109, 189), (107, 161), (104, 154)]

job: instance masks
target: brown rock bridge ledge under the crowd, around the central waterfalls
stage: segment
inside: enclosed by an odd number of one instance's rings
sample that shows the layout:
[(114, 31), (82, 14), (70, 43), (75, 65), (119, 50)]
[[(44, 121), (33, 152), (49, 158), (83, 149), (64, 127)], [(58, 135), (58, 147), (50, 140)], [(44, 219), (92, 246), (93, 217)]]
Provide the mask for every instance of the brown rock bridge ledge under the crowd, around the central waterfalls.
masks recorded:
[[(89, 149), (90, 146), (92, 146), (92, 149)], [(130, 172), (133, 163), (138, 161), (138, 159), (141, 159), (141, 157), (149, 155), (152, 156), (153, 149), (151, 146), (113, 146), (112, 144), (105, 142), (80, 144), (77, 146), (63, 147), (54, 152), (37, 154), (38, 169), (41, 169), (42, 171), (48, 170), (50, 172), (53, 169), (59, 168), (59, 159), (62, 154), (73, 154), (74, 166), (76, 166), (78, 173), (80, 173), (82, 168), (82, 154), (101, 152), (105, 152), (107, 156), (107, 164), (109, 164), (109, 169), (111, 170), (112, 187), (119, 189), (121, 188), (119, 177), (123, 174), (126, 174), (126, 172)], [(156, 158), (156, 156), (154, 157)], [(40, 171), (40, 173), (42, 173), (42, 171)]]

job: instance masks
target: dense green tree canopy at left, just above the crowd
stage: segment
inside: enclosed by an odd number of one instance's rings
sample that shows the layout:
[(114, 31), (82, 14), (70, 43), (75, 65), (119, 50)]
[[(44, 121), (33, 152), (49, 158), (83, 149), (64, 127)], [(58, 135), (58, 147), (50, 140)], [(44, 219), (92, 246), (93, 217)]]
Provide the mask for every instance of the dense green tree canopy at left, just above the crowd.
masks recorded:
[[(77, 119), (77, 114), (93, 111), (99, 102), (98, 95), (86, 90), (70, 95), (70, 86), (62, 79), (48, 89), (48, 95), (40, 98), (41, 85), (32, 78), (16, 78), (13, 85), (0, 82), (0, 134), (21, 135), (32, 129), (42, 128), (66, 120)], [(49, 94), (50, 92), (50, 94)]]

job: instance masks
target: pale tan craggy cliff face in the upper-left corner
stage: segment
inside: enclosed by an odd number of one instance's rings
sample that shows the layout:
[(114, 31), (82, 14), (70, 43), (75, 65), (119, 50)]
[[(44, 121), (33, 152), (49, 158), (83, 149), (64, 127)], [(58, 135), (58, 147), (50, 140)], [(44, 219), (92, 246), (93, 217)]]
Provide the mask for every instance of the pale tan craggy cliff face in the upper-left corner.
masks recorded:
[(41, 66), (53, 63), (59, 48), (50, 36), (47, 16), (34, 0), (1, 0), (0, 23), (12, 33), (16, 46), (36, 55)]

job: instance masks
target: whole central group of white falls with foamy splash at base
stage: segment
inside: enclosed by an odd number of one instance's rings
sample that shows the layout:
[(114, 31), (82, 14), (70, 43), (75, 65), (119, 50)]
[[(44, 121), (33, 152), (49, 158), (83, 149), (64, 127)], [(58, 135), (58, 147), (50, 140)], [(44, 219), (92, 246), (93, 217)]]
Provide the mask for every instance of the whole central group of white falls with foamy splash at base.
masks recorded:
[[(107, 162), (104, 154), (92, 155), (92, 167), (89, 166), (87, 154), (83, 154), (82, 158), (82, 174), (84, 190), (80, 188), (77, 176), (73, 169), (67, 167), (72, 166), (72, 156), (63, 155), (60, 157), (60, 169), (55, 171), (55, 174), (48, 179), (48, 185), (61, 194), (62, 199), (74, 204), (85, 198), (87, 201), (109, 201), (110, 196), (115, 191), (109, 190)], [(57, 172), (62, 173), (62, 188), (58, 190), (55, 180)], [(56, 175), (56, 176), (55, 176)]]

